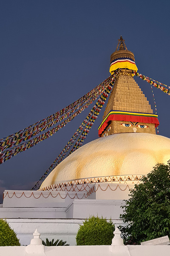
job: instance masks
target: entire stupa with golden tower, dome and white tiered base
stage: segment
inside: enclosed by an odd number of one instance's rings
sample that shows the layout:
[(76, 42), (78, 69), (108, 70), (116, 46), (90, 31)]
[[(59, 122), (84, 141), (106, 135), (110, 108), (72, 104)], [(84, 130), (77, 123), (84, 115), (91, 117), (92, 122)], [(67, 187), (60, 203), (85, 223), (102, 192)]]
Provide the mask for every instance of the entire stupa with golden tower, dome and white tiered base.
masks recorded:
[(4, 191), (0, 218), (8, 219), (21, 244), (29, 244), (37, 228), (42, 239), (74, 245), (89, 215), (112, 218), (118, 226), (129, 189), (156, 163), (170, 159), (170, 139), (156, 135), (158, 116), (133, 79), (135, 58), (122, 37), (111, 55), (111, 74), (118, 69), (99, 138), (59, 163), (38, 191)]

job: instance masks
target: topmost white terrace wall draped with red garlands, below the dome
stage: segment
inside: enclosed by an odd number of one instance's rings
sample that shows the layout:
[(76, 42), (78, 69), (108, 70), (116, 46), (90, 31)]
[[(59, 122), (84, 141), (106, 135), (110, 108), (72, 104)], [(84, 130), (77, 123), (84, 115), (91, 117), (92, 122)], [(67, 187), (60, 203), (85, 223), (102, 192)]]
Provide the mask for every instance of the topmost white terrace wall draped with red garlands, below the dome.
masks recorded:
[[(81, 187), (81, 185), (79, 185)], [(29, 191), (5, 190), (3, 208), (56, 208), (65, 211), (74, 200), (123, 200), (128, 198), (129, 189), (134, 184), (121, 183), (94, 183), (88, 184), (83, 191), (74, 190), (75, 186), (68, 187), (68, 191)], [(70, 190), (72, 189), (72, 190)], [(58, 189), (59, 190), (59, 189)], [(3, 209), (0, 209), (2, 212)]]

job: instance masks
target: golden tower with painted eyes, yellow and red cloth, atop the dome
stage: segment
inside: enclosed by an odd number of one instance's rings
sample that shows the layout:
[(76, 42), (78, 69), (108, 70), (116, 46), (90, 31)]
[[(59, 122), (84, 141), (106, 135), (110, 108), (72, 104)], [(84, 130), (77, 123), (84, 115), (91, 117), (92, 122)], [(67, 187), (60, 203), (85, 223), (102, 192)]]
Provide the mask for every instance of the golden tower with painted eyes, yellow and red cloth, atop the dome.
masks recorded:
[(158, 116), (153, 114), (147, 98), (133, 79), (133, 70), (138, 69), (134, 54), (127, 50), (122, 36), (111, 55), (110, 73), (118, 68), (121, 70), (99, 126), (99, 137), (131, 132), (156, 134)]

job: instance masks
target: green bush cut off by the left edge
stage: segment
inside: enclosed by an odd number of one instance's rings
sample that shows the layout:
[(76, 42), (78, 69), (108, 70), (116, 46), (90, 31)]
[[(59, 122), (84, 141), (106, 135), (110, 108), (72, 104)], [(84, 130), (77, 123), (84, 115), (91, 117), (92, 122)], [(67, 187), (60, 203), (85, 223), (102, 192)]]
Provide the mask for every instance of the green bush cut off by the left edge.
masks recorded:
[(3, 219), (0, 219), (0, 246), (20, 246), (16, 233)]

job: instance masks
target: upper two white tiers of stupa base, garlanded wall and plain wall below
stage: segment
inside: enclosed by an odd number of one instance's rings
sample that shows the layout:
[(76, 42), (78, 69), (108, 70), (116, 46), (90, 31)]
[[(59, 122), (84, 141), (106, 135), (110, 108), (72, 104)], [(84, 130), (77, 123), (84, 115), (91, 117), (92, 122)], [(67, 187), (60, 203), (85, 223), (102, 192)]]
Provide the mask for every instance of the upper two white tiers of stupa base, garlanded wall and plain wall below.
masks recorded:
[[(94, 183), (49, 191), (5, 190), (0, 218), (118, 219), (133, 184)], [(64, 189), (64, 191), (63, 191)]]

